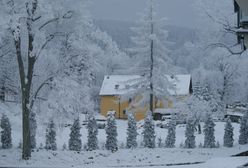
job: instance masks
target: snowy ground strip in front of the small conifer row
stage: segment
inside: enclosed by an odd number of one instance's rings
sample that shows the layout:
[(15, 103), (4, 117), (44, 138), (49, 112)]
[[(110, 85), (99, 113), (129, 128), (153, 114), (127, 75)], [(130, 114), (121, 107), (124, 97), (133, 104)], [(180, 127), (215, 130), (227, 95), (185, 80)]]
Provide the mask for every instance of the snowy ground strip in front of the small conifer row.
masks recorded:
[[(242, 148), (248, 148), (243, 146)], [(32, 153), (29, 161), (21, 160), (20, 149), (1, 150), (0, 166), (20, 167), (166, 167), (173, 168), (234, 168), (248, 162), (247, 157), (229, 157), (242, 151), (239, 147), (232, 149), (122, 149), (116, 153), (106, 150), (93, 152), (82, 151), (46, 151)], [(182, 163), (205, 162), (195, 165), (177, 165)]]

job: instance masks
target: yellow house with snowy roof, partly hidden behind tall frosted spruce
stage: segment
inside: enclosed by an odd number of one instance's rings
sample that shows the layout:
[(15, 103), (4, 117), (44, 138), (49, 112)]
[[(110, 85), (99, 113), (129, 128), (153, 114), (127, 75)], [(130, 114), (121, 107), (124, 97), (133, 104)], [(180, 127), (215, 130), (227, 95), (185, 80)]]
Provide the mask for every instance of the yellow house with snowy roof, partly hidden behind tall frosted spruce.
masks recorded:
[[(131, 109), (135, 113), (136, 120), (142, 120), (146, 116), (149, 106), (130, 107), (134, 101), (139, 99), (138, 95), (130, 95), (127, 93), (135, 91), (134, 87), (127, 85), (128, 81), (135, 81), (140, 79), (139, 75), (107, 75), (104, 77), (102, 87), (100, 90), (100, 113), (107, 116), (108, 111), (115, 111), (116, 118), (127, 119), (127, 111)], [(167, 98), (167, 100), (160, 101), (154, 99), (155, 109), (173, 108), (174, 100), (181, 100), (192, 92), (192, 83), (190, 75), (175, 75), (173, 78), (168, 76), (168, 81), (171, 81), (175, 89), (169, 90), (169, 93), (174, 98)], [(122, 96), (125, 95), (123, 100)], [(176, 98), (176, 99), (175, 99)], [(159, 111), (159, 110), (155, 110)], [(160, 110), (161, 111), (161, 110)]]

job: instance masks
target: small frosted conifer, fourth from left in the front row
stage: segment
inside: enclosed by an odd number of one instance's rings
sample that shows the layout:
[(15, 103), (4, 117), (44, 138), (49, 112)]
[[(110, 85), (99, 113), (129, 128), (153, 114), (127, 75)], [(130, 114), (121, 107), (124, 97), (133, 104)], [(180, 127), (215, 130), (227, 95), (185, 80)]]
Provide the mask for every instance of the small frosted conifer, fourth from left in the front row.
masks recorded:
[(74, 120), (74, 123), (71, 127), (70, 139), (69, 139), (69, 150), (81, 151), (82, 141), (80, 134), (80, 122), (79, 118)]

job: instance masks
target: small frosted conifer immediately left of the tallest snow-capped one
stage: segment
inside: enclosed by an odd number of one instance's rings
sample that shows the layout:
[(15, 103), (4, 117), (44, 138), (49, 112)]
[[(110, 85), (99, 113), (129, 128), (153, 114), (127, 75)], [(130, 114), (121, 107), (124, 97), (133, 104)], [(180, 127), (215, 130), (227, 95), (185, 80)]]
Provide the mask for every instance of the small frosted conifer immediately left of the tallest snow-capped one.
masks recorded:
[(88, 150), (90, 151), (96, 150), (98, 149), (98, 141), (97, 141), (98, 127), (94, 116), (89, 117), (87, 129), (88, 129), (88, 142), (87, 142)]

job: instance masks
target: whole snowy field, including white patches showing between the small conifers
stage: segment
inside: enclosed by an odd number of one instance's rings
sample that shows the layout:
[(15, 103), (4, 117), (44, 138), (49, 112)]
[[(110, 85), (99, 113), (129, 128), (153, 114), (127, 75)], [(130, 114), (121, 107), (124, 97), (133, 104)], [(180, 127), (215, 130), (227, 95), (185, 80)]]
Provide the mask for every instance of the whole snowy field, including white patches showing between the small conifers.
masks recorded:
[[(135, 150), (119, 149), (116, 153), (103, 150), (105, 142), (105, 130), (100, 129), (98, 134), (100, 150), (97, 151), (63, 151), (62, 146), (67, 144), (69, 139), (69, 128), (57, 130), (57, 151), (35, 150), (29, 161), (21, 160), (21, 150), (18, 143), (21, 139), (21, 115), (18, 106), (0, 104), (0, 115), (5, 111), (12, 124), (13, 148), (10, 150), (0, 149), (0, 167), (172, 167), (172, 168), (235, 168), (248, 163), (248, 157), (230, 157), (231, 155), (247, 151), (248, 145), (238, 145), (239, 125), (234, 126), (234, 147), (223, 147), (224, 123), (217, 122), (215, 127), (216, 141), (219, 141), (220, 148), (215, 149), (182, 149), (180, 144), (184, 142), (184, 125), (178, 125), (176, 131), (176, 148), (155, 148)], [(43, 121), (44, 123), (46, 121)], [(126, 141), (127, 122), (117, 120), (118, 143), (121, 148)], [(141, 142), (142, 128), (138, 129), (138, 143)], [(87, 130), (82, 126), (82, 141), (87, 140)], [(167, 129), (156, 127), (157, 138), (165, 141)], [(197, 145), (203, 143), (203, 135), (195, 134)], [(37, 144), (45, 142), (45, 125), (40, 121), (37, 132)], [(187, 165), (191, 163), (191, 165)], [(186, 165), (182, 165), (186, 164)]]

